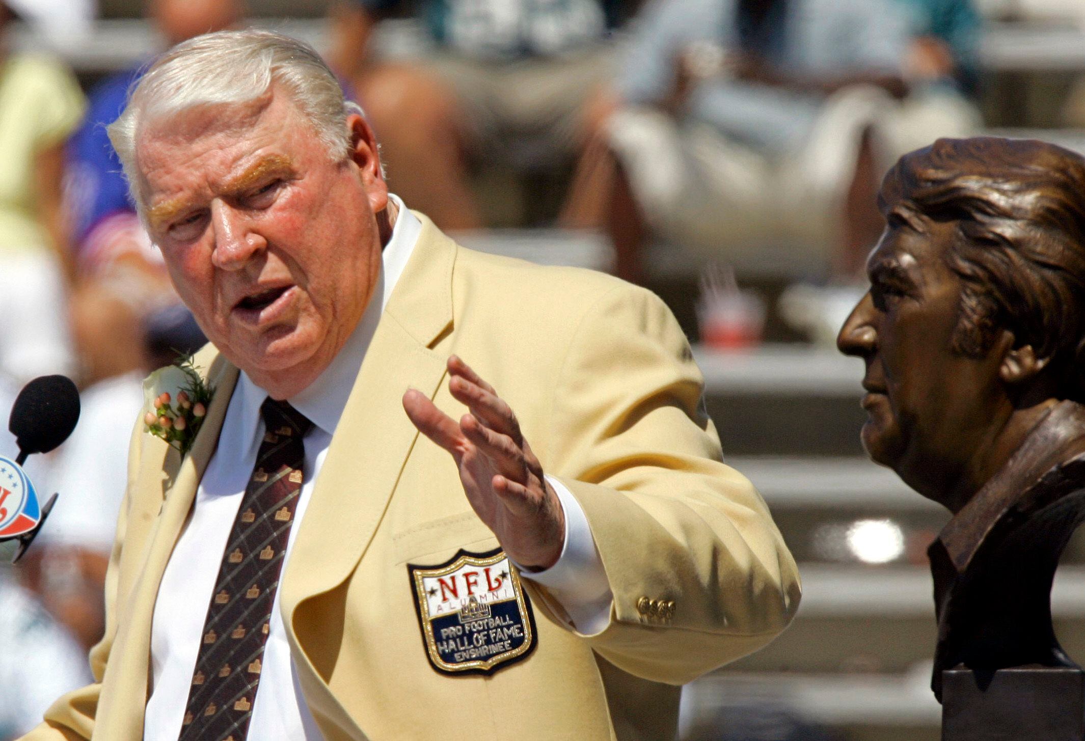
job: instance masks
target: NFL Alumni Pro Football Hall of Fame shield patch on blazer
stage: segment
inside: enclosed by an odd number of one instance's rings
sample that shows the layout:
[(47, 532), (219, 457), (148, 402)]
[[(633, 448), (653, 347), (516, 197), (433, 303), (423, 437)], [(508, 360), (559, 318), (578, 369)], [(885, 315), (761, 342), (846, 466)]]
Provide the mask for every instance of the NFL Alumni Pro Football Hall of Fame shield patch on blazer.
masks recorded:
[(501, 549), (407, 564), (426, 656), (442, 674), (493, 674), (538, 642), (532, 603)]

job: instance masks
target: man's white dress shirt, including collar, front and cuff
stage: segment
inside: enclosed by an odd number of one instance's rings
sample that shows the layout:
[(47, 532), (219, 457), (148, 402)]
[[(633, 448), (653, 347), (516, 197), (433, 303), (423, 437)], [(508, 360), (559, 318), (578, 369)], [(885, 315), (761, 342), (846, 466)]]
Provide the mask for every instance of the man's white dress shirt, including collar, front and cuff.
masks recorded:
[[(312, 421), (314, 427), (305, 436), (305, 481), (286, 544), (283, 570), (376, 323), (421, 233), (421, 221), (397, 196), (391, 195), (391, 199), (399, 214), (383, 251), (382, 272), (373, 294), (374, 298), (380, 297), (380, 304), (370, 301), (331, 365), (311, 385), (290, 399)], [(200, 482), (189, 521), (163, 575), (151, 629), (152, 691), (143, 726), (146, 741), (177, 741), (180, 734), (207, 605), (264, 437), (259, 409), (265, 398), (267, 392), (242, 372), (227, 408), (218, 447)], [(547, 586), (582, 633), (597, 633), (607, 625), (612, 602), (602, 562), (584, 510), (560, 482), (550, 477), (548, 481), (565, 511), (565, 545), (553, 566), (544, 572), (524, 572), (524, 576)], [(248, 738), (254, 741), (317, 741), (322, 738), (302, 695), (286, 643), (278, 593), (272, 605)]]

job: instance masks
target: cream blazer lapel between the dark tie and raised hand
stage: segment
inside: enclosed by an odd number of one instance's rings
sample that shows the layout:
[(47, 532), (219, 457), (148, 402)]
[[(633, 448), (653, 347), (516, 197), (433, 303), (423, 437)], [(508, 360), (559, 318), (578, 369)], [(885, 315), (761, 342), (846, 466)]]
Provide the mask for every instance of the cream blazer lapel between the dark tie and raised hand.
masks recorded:
[(445, 376), (447, 359), (431, 347), (452, 321), (456, 245), (418, 216), (422, 233), (366, 353), (280, 587), (306, 700), (346, 738), (365, 734), (328, 691), (299, 628), (306, 625), (304, 602), (341, 585), (362, 558), (418, 438), (403, 409), (404, 393), (416, 388), (432, 398)]

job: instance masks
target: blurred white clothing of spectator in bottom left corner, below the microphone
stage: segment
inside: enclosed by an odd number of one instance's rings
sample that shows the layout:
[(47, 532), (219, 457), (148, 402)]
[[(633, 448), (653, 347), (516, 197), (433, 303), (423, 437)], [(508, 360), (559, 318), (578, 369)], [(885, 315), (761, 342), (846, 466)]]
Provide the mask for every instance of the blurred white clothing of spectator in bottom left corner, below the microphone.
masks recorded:
[(0, 740), (41, 723), (53, 701), (93, 678), (85, 652), (26, 590), (0, 574)]

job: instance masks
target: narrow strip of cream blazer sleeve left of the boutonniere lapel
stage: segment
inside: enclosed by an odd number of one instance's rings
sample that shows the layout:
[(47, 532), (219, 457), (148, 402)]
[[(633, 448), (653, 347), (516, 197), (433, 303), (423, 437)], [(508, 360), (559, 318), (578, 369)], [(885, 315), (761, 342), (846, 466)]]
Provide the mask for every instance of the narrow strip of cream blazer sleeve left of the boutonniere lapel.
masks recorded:
[(143, 437), (146, 437), (141, 434), (142, 429), (142, 423), (137, 422), (132, 431), (132, 443), (128, 457), (129, 485), (120, 504), (116, 536), (113, 540), (113, 550), (110, 553), (110, 565), (105, 572), (105, 631), (102, 635), (102, 640), (90, 650), (90, 670), (94, 675), (95, 681), (61, 695), (46, 711), (44, 721), (24, 736), (21, 741), (61, 741), (62, 739), (75, 741), (76, 739), (90, 739), (94, 731), (94, 716), (98, 711), (102, 675), (105, 673), (105, 663), (110, 657), (110, 650), (117, 634), (117, 585), (123, 552), (122, 545), (125, 540), (128, 512), (131, 506), (132, 482), (137, 481), (140, 465), (140, 443)]

